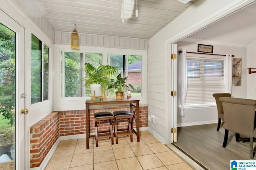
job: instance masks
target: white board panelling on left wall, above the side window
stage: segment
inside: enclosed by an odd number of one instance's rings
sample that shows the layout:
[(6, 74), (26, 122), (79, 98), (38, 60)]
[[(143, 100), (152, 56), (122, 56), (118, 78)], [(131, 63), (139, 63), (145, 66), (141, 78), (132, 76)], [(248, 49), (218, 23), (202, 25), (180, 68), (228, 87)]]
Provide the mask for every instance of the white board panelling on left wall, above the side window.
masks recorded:
[(54, 29), (52, 25), (38, 10), (34, 1), (32, 0), (12, 0), (34, 23), (47, 35), (47, 37), (54, 41)]

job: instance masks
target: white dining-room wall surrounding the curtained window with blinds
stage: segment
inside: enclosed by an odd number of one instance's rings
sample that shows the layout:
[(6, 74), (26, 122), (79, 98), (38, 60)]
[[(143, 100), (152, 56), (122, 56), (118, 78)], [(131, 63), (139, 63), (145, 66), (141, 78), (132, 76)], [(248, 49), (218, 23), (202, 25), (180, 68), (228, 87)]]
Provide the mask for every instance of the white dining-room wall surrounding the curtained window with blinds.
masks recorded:
[[(187, 39), (190, 40), (190, 39)], [(198, 44), (206, 44), (201, 41), (197, 42), (177, 42), (178, 50), (186, 49), (189, 52), (197, 52)], [(215, 42), (216, 43), (216, 42)], [(232, 97), (235, 98), (246, 98), (247, 93), (247, 59), (246, 59), (246, 47), (234, 47), (225, 45), (216, 45), (209, 42), (207, 45), (213, 45), (214, 54), (232, 54), (234, 58), (242, 59), (242, 86), (232, 87)], [(179, 92), (178, 92), (179, 93)], [(213, 97), (212, 97), (213, 98)], [(178, 100), (179, 101), (179, 100)], [(178, 103), (179, 105), (179, 103)], [(177, 109), (178, 110), (178, 109)], [(185, 115), (177, 115), (177, 126), (190, 126), (190, 125), (201, 125), (208, 123), (218, 123), (217, 107), (201, 107), (201, 108), (186, 108)]]

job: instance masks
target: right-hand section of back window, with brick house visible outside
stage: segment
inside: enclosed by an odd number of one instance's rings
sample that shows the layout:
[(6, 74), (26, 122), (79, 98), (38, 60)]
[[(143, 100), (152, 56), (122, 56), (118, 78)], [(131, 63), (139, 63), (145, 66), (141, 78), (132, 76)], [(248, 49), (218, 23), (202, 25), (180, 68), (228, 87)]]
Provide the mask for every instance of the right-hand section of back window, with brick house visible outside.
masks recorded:
[(134, 90), (130, 89), (132, 96), (141, 96), (141, 56), (110, 55), (110, 65), (117, 66), (123, 77), (128, 76), (126, 83), (134, 86)]

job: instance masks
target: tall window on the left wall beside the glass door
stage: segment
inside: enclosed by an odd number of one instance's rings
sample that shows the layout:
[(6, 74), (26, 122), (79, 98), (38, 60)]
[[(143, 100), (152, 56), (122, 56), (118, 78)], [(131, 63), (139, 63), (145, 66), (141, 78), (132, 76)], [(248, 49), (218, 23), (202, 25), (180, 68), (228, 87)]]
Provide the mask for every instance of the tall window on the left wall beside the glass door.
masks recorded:
[(35, 104), (48, 100), (49, 48), (33, 34), (31, 38), (31, 104)]

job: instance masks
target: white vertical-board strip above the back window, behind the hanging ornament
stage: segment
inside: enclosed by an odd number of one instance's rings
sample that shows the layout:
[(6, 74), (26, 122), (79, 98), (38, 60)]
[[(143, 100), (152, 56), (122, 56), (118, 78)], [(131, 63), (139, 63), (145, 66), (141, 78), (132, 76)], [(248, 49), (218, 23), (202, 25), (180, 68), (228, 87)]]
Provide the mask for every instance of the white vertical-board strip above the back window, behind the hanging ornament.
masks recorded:
[[(148, 49), (148, 39), (116, 37), (78, 33), (80, 46), (110, 47), (122, 49)], [(55, 32), (55, 44), (70, 45), (71, 32)]]

